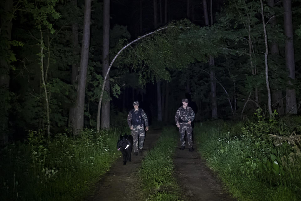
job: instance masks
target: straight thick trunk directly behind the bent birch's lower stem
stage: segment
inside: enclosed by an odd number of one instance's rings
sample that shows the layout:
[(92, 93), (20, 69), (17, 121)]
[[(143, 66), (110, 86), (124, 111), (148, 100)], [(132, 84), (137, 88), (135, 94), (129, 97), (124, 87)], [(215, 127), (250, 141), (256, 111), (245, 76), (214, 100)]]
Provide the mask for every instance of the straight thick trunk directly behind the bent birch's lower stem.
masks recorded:
[[(110, 64), (110, 0), (103, 1), (103, 77), (106, 75)], [(109, 78), (109, 74), (107, 79)], [(107, 80), (105, 90), (110, 94), (110, 82)], [(101, 128), (110, 127), (110, 100), (103, 101), (101, 110)]]

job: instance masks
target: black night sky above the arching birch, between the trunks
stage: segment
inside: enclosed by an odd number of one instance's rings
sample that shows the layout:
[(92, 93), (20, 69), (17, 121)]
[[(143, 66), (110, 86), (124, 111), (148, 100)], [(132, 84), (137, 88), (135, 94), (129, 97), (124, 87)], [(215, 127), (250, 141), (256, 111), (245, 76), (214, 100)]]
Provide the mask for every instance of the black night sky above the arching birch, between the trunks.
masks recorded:
[[(157, 0), (159, 3), (159, 0)], [(203, 3), (199, 0), (190, 0), (190, 17), (189, 19), (200, 26), (204, 25), (203, 20)], [(214, 1), (213, 13), (221, 5), (222, 0)], [(208, 1), (209, 3), (209, 1)], [(208, 4), (209, 6), (209, 4)], [(128, 31), (133, 38), (136, 38), (140, 26), (140, 0), (111, 1), (111, 26), (120, 24), (128, 27)], [(158, 8), (159, 10), (159, 8)], [(142, 1), (142, 33), (154, 30), (154, 11), (153, 0)], [(162, 0), (162, 20), (164, 21), (164, 0)], [(168, 0), (167, 1), (167, 22), (187, 18), (187, 0)], [(160, 24), (160, 15), (158, 14)], [(164, 22), (159, 26), (165, 25)], [(139, 32), (139, 31), (138, 31)]]

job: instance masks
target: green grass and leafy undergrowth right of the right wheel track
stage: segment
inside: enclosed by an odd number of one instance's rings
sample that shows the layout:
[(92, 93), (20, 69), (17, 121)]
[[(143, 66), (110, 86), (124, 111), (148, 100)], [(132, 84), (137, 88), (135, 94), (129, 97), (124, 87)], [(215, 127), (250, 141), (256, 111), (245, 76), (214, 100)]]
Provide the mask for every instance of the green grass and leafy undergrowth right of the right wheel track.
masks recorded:
[(301, 117), (255, 115), (245, 123), (196, 124), (200, 154), (238, 200), (301, 200)]

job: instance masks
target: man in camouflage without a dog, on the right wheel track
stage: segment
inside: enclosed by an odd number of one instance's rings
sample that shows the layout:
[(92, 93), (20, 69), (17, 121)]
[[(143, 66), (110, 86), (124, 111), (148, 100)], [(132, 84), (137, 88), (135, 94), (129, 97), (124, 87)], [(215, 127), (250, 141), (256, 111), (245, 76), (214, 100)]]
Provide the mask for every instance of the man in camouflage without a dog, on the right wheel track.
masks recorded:
[(191, 107), (188, 106), (188, 99), (182, 99), (182, 106), (176, 112), (176, 125), (179, 128), (180, 132), (180, 142), (181, 142), (181, 150), (185, 149), (185, 131), (187, 134), (187, 142), (189, 151), (194, 151), (192, 145), (192, 126), (191, 122), (193, 122), (195, 114)]

